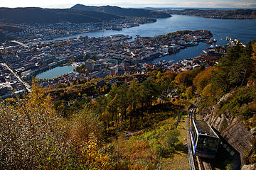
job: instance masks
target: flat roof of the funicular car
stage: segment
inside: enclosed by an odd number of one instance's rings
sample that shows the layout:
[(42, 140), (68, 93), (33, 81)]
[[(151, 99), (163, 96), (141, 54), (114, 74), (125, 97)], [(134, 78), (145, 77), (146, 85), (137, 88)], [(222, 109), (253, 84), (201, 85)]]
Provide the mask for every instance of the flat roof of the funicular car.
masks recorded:
[(193, 120), (198, 131), (198, 135), (207, 135), (211, 137), (218, 137), (218, 135), (210, 128), (210, 125), (205, 121)]

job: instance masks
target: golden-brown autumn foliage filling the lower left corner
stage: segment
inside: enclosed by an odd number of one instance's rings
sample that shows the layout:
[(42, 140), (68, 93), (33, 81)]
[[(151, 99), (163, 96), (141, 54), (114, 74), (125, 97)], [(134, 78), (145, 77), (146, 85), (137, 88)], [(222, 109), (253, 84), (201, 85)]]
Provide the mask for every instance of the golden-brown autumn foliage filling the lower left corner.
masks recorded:
[(100, 151), (89, 129), (97, 128), (92, 116), (75, 120), (77, 128), (67, 128), (37, 84), (23, 99), (1, 101), (0, 108), (0, 169), (111, 169), (111, 157)]

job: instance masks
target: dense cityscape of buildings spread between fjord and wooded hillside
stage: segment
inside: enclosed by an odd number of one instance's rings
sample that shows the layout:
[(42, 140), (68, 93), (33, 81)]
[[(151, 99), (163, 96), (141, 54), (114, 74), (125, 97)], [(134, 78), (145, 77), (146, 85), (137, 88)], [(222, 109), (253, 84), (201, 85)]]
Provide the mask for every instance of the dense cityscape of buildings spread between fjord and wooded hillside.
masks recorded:
[[(54, 33), (53, 33), (54, 35)], [(72, 40), (55, 42), (18, 42), (12, 41), (1, 46), (2, 63), (1, 96), (6, 98), (26, 89), (23, 81), (60, 65), (71, 64), (83, 67), (87, 71), (46, 80), (44, 86), (56, 86), (60, 83), (70, 84), (78, 79), (97, 79), (113, 75), (151, 72), (162, 69), (181, 72), (200, 67), (206, 60), (216, 61), (225, 53), (225, 48), (212, 47), (205, 54), (195, 56), (193, 60), (184, 60), (176, 64), (162, 61), (150, 63), (154, 57), (162, 57), (209, 42), (211, 34), (208, 30), (177, 31), (154, 38), (137, 36), (133, 41), (129, 35), (110, 35), (102, 38), (80, 36)], [(26, 45), (24, 45), (26, 43)], [(147, 61), (147, 62), (146, 62)], [(22, 79), (22, 80), (21, 80)], [(29, 87), (27, 88), (27, 90)]]

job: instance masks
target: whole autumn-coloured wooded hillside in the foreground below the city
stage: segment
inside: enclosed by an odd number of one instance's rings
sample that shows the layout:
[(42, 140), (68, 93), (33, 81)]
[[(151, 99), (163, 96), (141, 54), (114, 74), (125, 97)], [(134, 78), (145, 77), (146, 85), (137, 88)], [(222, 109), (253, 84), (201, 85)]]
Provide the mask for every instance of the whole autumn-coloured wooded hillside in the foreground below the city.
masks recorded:
[(197, 117), (229, 142), (218, 154), (231, 158), (215, 168), (233, 169), (233, 148), (242, 164), (255, 164), (255, 54), (252, 40), (229, 47), (214, 67), (49, 89), (34, 81), (31, 93), (0, 100), (0, 169), (188, 169), (184, 119), (198, 95)]

